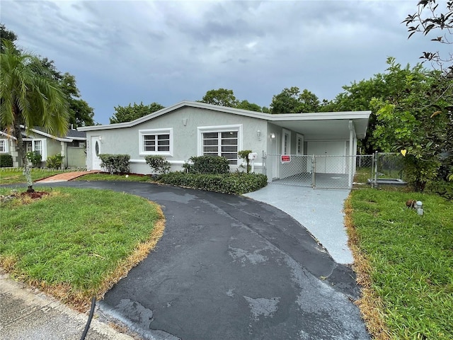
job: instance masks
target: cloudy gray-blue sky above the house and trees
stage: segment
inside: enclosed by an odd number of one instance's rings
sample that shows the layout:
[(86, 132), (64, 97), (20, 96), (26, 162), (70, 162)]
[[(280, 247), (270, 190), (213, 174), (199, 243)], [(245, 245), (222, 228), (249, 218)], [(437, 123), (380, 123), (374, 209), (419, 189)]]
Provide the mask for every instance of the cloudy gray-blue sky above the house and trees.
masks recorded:
[(219, 88), (260, 106), (291, 86), (333, 99), (384, 72), (389, 56), (413, 66), (442, 47), (407, 39), (401, 21), (417, 3), (1, 0), (0, 21), (17, 45), (73, 74), (108, 124), (114, 106), (171, 106)]

